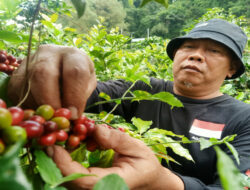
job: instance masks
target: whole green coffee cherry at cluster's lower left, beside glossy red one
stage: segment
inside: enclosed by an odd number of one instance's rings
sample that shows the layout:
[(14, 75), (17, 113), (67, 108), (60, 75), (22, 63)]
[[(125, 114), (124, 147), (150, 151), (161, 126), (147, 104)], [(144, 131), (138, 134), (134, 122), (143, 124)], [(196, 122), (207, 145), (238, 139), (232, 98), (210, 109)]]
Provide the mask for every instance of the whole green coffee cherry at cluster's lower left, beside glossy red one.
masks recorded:
[(27, 139), (27, 134), (24, 128), (19, 126), (11, 126), (3, 131), (3, 139), (7, 144), (15, 144), (18, 141)]

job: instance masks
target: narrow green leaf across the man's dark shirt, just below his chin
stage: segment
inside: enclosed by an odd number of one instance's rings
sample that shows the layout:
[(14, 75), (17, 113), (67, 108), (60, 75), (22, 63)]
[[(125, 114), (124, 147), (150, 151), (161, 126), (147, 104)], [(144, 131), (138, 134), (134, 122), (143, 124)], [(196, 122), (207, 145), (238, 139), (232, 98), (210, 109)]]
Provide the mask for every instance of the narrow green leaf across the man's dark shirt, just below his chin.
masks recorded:
[(183, 107), (183, 104), (180, 100), (178, 100), (173, 94), (169, 92), (159, 92), (156, 94), (150, 94), (149, 92), (142, 91), (142, 90), (135, 90), (133, 91), (133, 95), (135, 98), (133, 101), (140, 101), (140, 100), (158, 100), (165, 102), (172, 107)]

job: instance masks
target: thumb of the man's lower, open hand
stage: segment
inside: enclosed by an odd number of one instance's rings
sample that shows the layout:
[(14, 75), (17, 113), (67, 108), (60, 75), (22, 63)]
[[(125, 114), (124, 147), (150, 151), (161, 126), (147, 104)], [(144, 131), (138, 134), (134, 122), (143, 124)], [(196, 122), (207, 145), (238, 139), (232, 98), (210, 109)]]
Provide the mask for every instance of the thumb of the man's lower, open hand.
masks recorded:
[(151, 149), (144, 142), (116, 129), (96, 125), (94, 138), (101, 147), (113, 149), (122, 155), (141, 158), (148, 152), (154, 156)]

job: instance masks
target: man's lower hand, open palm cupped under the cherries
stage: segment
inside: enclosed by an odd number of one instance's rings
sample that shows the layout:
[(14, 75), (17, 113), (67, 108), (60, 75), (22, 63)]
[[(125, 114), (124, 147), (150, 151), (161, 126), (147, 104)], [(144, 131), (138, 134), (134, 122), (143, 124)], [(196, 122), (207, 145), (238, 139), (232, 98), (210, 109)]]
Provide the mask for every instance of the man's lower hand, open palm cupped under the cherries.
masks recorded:
[(67, 183), (69, 189), (92, 189), (100, 178), (111, 173), (120, 175), (131, 190), (184, 189), (182, 180), (162, 167), (151, 149), (142, 141), (101, 125), (96, 126), (94, 138), (100, 147), (116, 152), (112, 167), (84, 168), (80, 163), (72, 161), (64, 148), (56, 145), (48, 148), (48, 155), (53, 158), (64, 176), (72, 173), (96, 175)]

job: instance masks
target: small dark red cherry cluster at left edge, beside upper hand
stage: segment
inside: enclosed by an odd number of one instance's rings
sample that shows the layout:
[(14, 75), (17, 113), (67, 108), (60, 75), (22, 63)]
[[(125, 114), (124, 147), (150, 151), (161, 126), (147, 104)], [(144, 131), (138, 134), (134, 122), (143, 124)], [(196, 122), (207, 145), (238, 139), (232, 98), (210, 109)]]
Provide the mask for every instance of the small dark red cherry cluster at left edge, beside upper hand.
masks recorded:
[(0, 50), (0, 71), (11, 75), (21, 64), (22, 60), (17, 60), (13, 55), (7, 54), (6, 51)]

